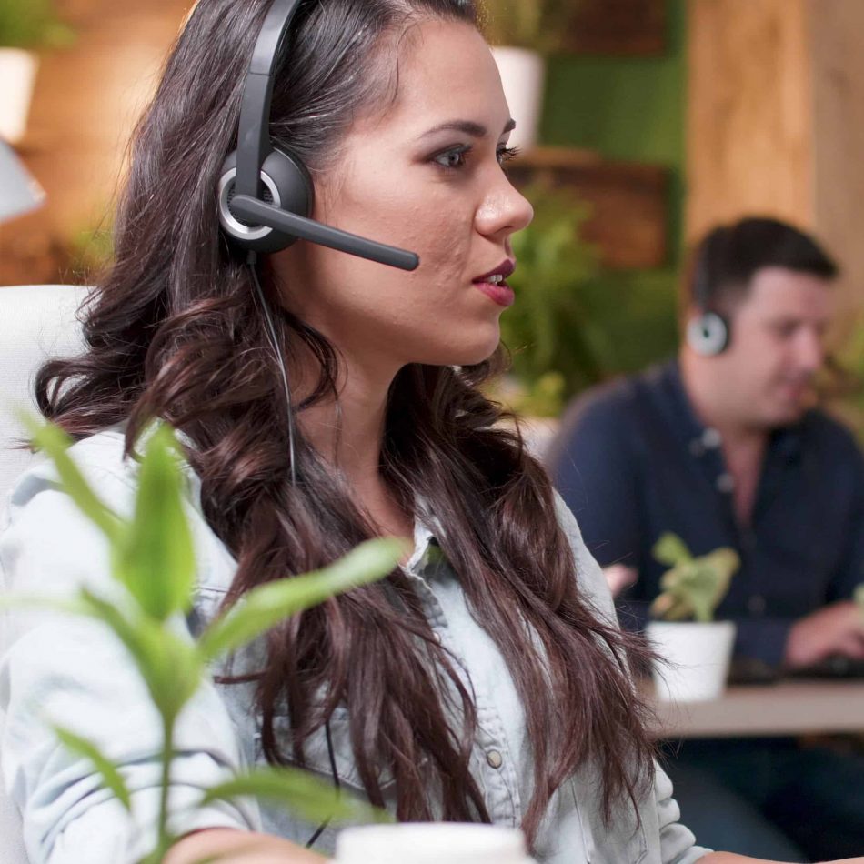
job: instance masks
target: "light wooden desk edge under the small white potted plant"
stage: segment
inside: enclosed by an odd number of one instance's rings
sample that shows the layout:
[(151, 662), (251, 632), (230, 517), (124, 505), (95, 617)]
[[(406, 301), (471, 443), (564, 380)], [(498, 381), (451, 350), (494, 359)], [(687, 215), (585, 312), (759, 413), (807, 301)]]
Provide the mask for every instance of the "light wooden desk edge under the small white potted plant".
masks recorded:
[[(650, 684), (645, 685), (653, 693)], [(659, 702), (658, 738), (729, 738), (864, 731), (864, 681), (789, 680), (730, 687), (710, 702)]]

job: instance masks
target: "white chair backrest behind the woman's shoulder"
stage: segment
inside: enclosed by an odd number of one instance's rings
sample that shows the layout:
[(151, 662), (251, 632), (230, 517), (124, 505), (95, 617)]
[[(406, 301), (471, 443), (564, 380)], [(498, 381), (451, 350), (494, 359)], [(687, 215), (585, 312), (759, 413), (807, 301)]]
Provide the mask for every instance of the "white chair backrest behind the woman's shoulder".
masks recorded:
[[(5, 526), (6, 502), (15, 479), (33, 458), (28, 450), (15, 447), (24, 434), (15, 410), (36, 411), (34, 377), (46, 358), (68, 357), (81, 351), (83, 338), (75, 310), (86, 290), (66, 285), (0, 287), (0, 527)], [(4, 646), (0, 618), (0, 652)], [(0, 709), (0, 729), (2, 726)], [(2, 768), (0, 761), (0, 774)], [(3, 782), (0, 782), (0, 861), (27, 864), (21, 818), (7, 797)]]

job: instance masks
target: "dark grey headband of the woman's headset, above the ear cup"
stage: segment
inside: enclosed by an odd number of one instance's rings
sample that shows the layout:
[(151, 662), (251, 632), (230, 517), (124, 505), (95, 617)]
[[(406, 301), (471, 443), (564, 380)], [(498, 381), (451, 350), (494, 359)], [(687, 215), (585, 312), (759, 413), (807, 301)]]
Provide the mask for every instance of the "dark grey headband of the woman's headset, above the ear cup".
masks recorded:
[(300, 2), (274, 0), (252, 52), (237, 130), (237, 195), (258, 196), (261, 166), (272, 149), (269, 124), (276, 60)]

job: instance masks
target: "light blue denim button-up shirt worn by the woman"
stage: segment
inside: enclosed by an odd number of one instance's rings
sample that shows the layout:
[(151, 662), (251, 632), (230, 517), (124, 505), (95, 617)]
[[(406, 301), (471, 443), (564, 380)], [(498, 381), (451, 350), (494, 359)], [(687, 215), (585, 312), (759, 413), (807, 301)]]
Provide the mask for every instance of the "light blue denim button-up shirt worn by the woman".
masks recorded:
[[(136, 464), (122, 458), (123, 435), (109, 430), (79, 442), (73, 457), (100, 496), (118, 513), (131, 512)], [(190, 638), (219, 608), (236, 561), (203, 517), (199, 485), (189, 469), (188, 515), (196, 543), (196, 605), (177, 628)], [(113, 588), (105, 540), (56, 488), (51, 467), (39, 463), (19, 480), (9, 502), (9, 524), (0, 536), (5, 588), (63, 595), (82, 584), (104, 595)], [(597, 563), (586, 550), (575, 519), (560, 501), (558, 518), (577, 559), (583, 596), (599, 614), (614, 618), (611, 598)], [(407, 564), (431, 627), (457, 658), (459, 674), (477, 703), (477, 736), (472, 770), (491, 818), (518, 826), (531, 797), (533, 768), (524, 710), (497, 646), (477, 626), (457, 575), (437, 550), (430, 527), (418, 525), (415, 550)], [(9, 790), (25, 819), (25, 844), (34, 864), (118, 864), (147, 851), (153, 837), (145, 826), (158, 807), (156, 754), (160, 726), (125, 649), (97, 623), (45, 612), (15, 613), (0, 665), (0, 708), (5, 710), (3, 769)], [(235, 667), (234, 671), (237, 671)], [(285, 809), (244, 800), (213, 805), (183, 815), (200, 790), (238, 766), (262, 759), (260, 718), (253, 685), (207, 683), (181, 716), (179, 756), (174, 772), (175, 827), (205, 826), (265, 830), (302, 844), (316, 825)], [(85, 760), (71, 755), (46, 728), (52, 718), (95, 740), (122, 766), (133, 793), (135, 821)], [(277, 718), (276, 728), (287, 727)], [(332, 738), (340, 780), (362, 793), (349, 743), (347, 714), (332, 718)], [(308, 767), (330, 777), (322, 733), (307, 748)], [(544, 864), (689, 864), (708, 850), (694, 845), (678, 823), (672, 786), (658, 769), (654, 789), (640, 802), (641, 825), (632, 807), (621, 805), (610, 828), (600, 815), (598, 777), (580, 769), (552, 799), (537, 837), (537, 859)], [(388, 803), (395, 789), (383, 778)], [(327, 829), (315, 848), (333, 849), (336, 832)]]

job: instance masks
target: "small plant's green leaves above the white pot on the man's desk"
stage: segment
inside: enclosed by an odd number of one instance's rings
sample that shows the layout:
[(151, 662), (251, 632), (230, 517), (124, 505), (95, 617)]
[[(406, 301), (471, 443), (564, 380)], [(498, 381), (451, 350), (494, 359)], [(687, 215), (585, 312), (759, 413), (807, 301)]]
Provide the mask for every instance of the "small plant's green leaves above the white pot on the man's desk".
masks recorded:
[(651, 550), (668, 570), (660, 578), (662, 593), (649, 609), (652, 618), (682, 621), (694, 618), (708, 622), (726, 597), (732, 576), (741, 564), (738, 553), (728, 547), (694, 558), (684, 541), (666, 532)]

